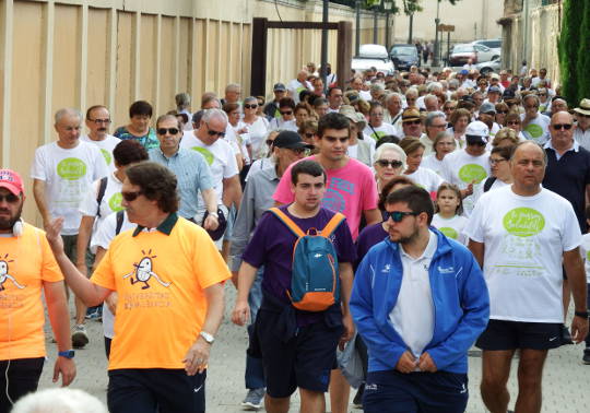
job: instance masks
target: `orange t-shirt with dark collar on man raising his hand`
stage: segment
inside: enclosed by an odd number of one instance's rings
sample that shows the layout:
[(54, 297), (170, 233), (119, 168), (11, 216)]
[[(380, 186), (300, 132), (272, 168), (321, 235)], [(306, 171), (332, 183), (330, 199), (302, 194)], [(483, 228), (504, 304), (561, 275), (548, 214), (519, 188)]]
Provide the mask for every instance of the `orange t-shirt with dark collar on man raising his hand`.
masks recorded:
[(229, 278), (209, 234), (185, 219), (169, 235), (121, 233), (91, 279), (119, 295), (108, 368), (184, 368), (206, 316), (203, 290)]

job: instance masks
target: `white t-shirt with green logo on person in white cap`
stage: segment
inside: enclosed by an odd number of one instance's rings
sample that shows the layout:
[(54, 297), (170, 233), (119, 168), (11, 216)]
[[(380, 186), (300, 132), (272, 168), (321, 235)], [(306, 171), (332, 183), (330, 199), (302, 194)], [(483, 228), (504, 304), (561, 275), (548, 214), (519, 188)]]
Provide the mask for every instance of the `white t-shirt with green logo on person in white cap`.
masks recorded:
[(445, 156), (442, 160), (442, 178), (449, 182), (457, 185), (459, 189), (465, 189), (469, 184), (473, 182), (473, 194), (463, 199), (463, 213), (465, 216), (471, 214), (475, 202), (483, 190), (485, 178), (489, 176), (489, 152), (485, 152), (481, 156), (471, 156), (465, 150), (455, 151)]

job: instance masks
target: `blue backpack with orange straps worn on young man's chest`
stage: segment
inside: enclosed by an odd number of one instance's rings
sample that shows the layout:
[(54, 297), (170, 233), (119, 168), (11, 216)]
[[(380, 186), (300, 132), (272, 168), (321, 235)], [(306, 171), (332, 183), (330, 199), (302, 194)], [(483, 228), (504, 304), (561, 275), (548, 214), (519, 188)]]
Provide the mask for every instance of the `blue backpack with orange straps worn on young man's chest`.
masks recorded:
[(304, 233), (280, 209), (269, 211), (297, 237), (293, 247), (291, 292), (286, 292), (293, 306), (304, 311), (323, 311), (339, 303), (338, 256), (330, 236), (344, 221), (344, 215), (337, 212), (321, 232), (309, 228)]

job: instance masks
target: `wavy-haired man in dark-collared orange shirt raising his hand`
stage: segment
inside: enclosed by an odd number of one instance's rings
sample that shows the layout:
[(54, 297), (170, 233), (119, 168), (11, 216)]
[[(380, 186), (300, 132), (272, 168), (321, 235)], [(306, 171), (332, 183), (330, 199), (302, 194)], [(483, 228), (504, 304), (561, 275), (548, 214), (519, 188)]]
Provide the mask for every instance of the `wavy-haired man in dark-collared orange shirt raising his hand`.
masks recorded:
[(49, 240), (68, 285), (88, 307), (118, 294), (109, 357), (111, 413), (204, 412), (209, 353), (224, 311), (229, 270), (208, 233), (179, 217), (176, 176), (143, 162), (121, 194), (135, 229), (119, 234), (91, 280), (68, 260), (59, 231)]

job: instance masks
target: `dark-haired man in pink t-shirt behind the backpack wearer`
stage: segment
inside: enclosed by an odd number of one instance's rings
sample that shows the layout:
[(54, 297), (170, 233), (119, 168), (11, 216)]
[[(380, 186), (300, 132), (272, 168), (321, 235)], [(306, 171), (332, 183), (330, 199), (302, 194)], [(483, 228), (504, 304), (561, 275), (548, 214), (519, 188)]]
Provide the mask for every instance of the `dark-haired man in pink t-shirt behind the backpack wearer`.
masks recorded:
[[(377, 209), (377, 184), (368, 166), (346, 155), (350, 142), (350, 121), (342, 114), (331, 113), (318, 122), (315, 145), (319, 153), (307, 160), (320, 163), (328, 176), (328, 188), (321, 201), (323, 208), (342, 212), (351, 229), (353, 239), (358, 236), (361, 216), (367, 225), (382, 221)], [(285, 170), (273, 199), (276, 204), (292, 203), (291, 168)], [(333, 413), (346, 412), (350, 386), (338, 369), (330, 378), (330, 401)]]

